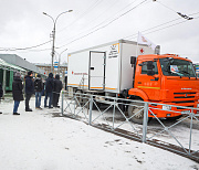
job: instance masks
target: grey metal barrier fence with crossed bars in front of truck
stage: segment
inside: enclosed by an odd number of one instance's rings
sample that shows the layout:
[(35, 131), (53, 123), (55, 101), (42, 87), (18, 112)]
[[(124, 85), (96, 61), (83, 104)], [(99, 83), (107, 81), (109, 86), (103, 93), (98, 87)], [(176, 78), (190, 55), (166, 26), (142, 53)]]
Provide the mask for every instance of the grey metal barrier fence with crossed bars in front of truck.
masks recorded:
[[(156, 106), (156, 107), (154, 107)], [(181, 113), (177, 120), (158, 118), (155, 111), (176, 107)], [(128, 108), (135, 108), (128, 116)], [(190, 111), (178, 111), (189, 109)], [(62, 115), (121, 136), (157, 146), (199, 161), (199, 108), (62, 92)], [(150, 119), (148, 114), (153, 115)], [(132, 119), (143, 116), (143, 125)]]

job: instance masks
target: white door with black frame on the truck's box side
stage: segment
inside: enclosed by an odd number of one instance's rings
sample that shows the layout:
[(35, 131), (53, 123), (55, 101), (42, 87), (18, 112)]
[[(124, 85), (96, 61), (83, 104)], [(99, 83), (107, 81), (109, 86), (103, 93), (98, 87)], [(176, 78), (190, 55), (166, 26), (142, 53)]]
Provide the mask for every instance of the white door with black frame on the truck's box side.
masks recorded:
[(90, 52), (90, 89), (105, 87), (105, 52)]

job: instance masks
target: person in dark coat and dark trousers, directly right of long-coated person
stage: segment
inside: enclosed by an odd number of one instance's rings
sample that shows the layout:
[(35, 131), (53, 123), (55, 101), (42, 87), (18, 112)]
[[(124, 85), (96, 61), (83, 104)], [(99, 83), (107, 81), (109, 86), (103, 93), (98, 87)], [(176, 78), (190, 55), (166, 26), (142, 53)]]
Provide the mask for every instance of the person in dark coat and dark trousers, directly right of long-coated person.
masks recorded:
[(32, 71), (30, 71), (25, 76), (25, 111), (32, 111), (32, 109), (29, 107), (29, 102), (33, 93), (34, 93), (34, 83), (32, 79)]

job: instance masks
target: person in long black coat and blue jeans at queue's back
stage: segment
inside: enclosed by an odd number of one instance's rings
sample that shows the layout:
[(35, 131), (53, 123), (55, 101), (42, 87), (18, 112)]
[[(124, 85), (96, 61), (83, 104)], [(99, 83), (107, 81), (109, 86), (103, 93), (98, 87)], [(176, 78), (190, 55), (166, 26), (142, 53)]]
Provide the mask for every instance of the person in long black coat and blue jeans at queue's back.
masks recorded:
[(18, 113), (18, 107), (19, 107), (20, 100), (23, 100), (22, 91), (23, 91), (23, 84), (21, 79), (21, 74), (17, 72), (13, 78), (13, 83), (12, 83), (12, 96), (14, 100), (13, 115), (20, 115)]

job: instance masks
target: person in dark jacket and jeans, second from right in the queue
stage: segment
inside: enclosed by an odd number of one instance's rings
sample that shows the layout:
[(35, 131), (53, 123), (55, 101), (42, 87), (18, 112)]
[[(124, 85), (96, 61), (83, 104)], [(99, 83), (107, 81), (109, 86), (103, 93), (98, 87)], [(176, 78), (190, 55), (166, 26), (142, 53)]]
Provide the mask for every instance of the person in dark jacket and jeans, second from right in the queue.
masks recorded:
[[(45, 81), (45, 98), (44, 98), (44, 107), (53, 108), (52, 105), (52, 98), (53, 98), (53, 88), (54, 88), (54, 81), (53, 81), (53, 74), (49, 73), (49, 77)], [(49, 106), (46, 105), (49, 97)]]

